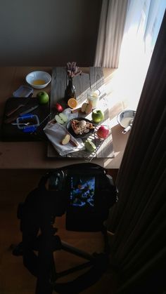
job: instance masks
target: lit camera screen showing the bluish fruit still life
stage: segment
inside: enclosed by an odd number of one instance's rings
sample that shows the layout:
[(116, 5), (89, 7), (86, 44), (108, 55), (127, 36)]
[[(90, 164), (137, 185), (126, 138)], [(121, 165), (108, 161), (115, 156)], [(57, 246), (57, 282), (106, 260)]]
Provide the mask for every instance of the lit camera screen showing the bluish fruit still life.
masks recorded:
[(70, 178), (70, 206), (94, 207), (95, 177)]

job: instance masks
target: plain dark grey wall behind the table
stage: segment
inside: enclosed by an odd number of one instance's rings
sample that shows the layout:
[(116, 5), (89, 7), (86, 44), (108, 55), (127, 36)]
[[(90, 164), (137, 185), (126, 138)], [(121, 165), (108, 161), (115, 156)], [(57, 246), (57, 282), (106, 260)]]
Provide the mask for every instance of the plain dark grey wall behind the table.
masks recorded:
[(94, 63), (101, 0), (1, 0), (0, 65)]

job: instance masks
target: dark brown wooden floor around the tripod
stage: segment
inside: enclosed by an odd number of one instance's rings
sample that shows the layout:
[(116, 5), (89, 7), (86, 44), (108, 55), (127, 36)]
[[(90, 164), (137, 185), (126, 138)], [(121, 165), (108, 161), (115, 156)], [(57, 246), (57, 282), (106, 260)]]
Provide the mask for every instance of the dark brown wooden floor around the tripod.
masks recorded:
[[(23, 266), (22, 257), (12, 254), (11, 245), (21, 241), (20, 222), (16, 216), (18, 203), (23, 202), (27, 194), (37, 187), (44, 171), (0, 171), (0, 293), (1, 294), (32, 294), (36, 278)], [(115, 177), (117, 171), (110, 170)], [(79, 233), (65, 230), (65, 215), (56, 218), (56, 227), (60, 239), (89, 253), (101, 252), (103, 239), (101, 233)], [(56, 269), (78, 265), (80, 259), (66, 253), (56, 251)], [(76, 275), (75, 275), (76, 276)], [(70, 279), (73, 279), (72, 276)], [(108, 268), (102, 278), (82, 294), (114, 294), (116, 288), (115, 273)], [(54, 292), (56, 293), (56, 292)], [(71, 293), (72, 294), (72, 293)]]

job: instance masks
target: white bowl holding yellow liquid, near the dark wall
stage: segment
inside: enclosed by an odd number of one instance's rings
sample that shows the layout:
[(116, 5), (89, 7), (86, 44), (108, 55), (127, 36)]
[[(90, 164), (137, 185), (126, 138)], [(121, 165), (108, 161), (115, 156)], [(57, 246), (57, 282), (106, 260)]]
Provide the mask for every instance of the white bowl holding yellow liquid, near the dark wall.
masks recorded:
[(30, 72), (25, 80), (35, 89), (45, 88), (51, 82), (51, 75), (48, 72)]

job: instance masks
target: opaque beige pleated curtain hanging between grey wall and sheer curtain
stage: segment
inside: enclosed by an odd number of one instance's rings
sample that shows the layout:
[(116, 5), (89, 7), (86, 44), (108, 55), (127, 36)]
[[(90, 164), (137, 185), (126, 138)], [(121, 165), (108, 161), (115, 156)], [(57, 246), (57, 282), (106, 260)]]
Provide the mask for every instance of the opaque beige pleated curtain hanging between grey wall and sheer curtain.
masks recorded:
[(94, 66), (117, 68), (128, 0), (103, 0)]

